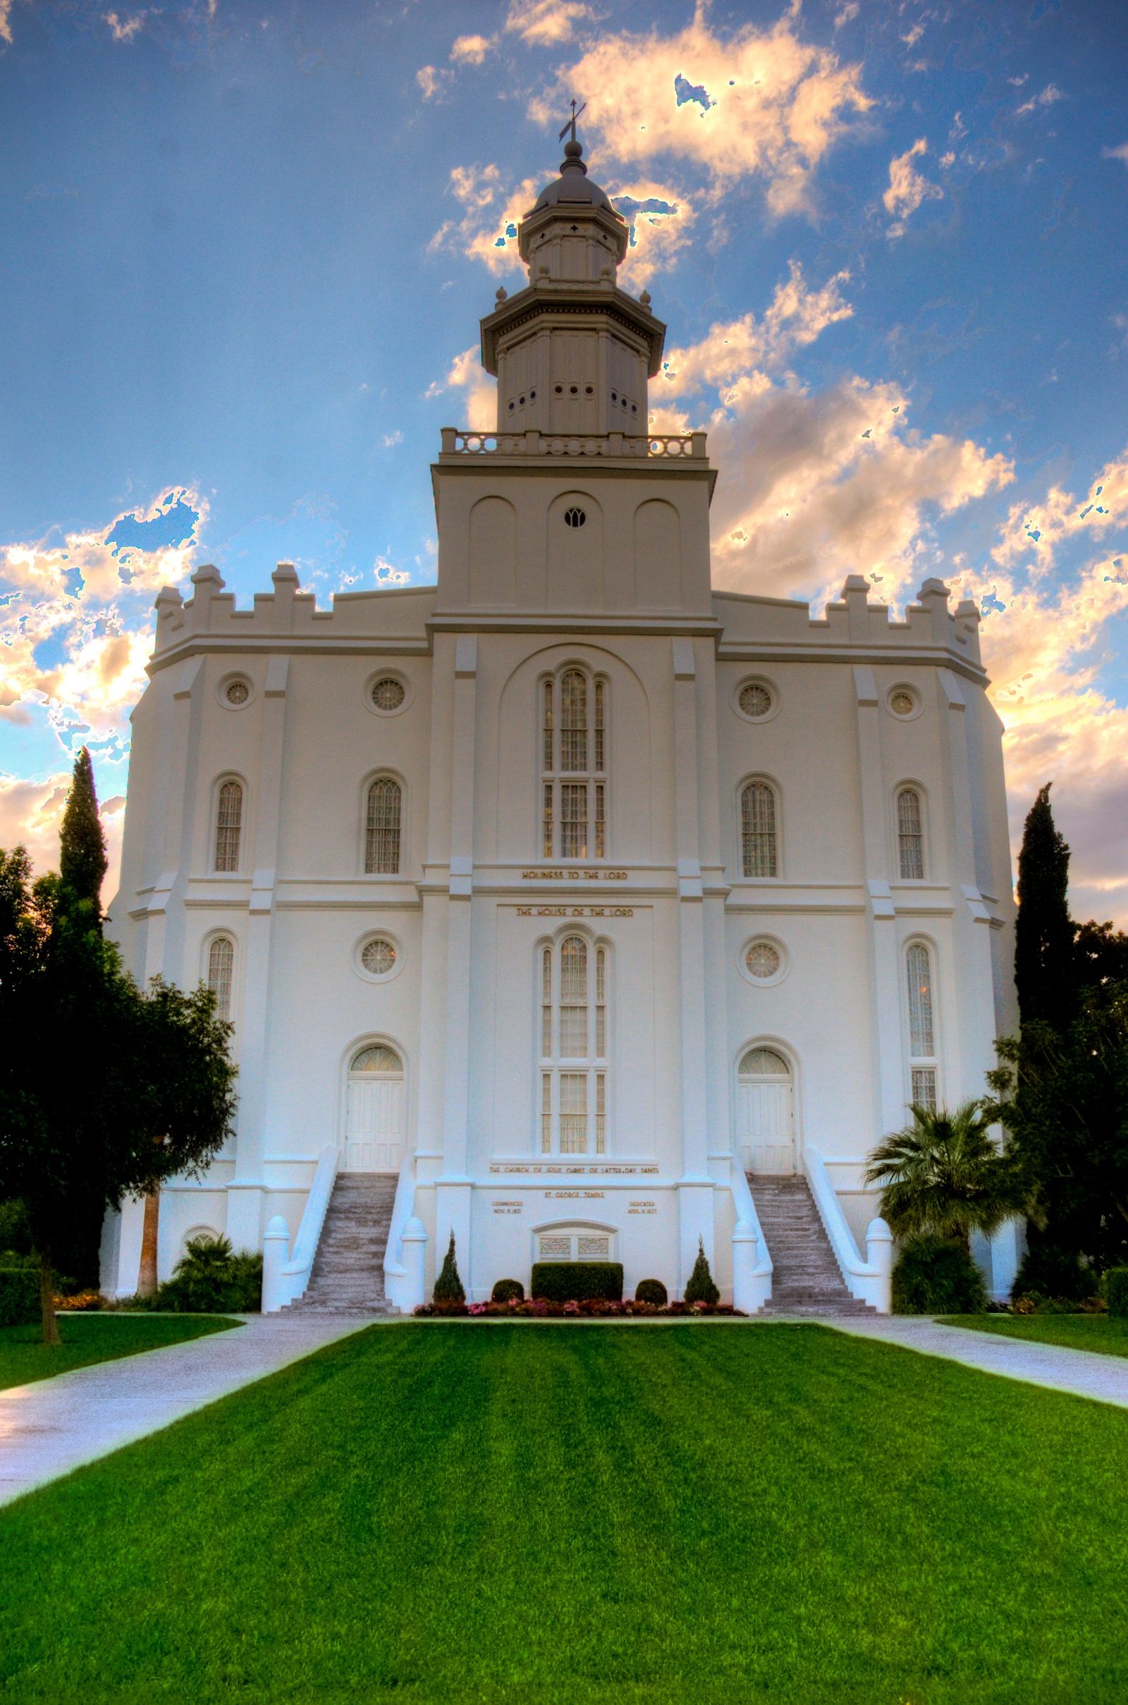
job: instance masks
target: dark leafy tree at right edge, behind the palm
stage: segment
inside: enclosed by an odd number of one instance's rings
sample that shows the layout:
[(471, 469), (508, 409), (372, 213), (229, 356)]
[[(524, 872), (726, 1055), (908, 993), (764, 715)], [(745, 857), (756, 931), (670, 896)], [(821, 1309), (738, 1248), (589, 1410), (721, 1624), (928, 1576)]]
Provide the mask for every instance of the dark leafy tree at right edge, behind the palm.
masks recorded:
[(992, 1117), (1034, 1221), (1043, 1267), (1128, 1258), (1128, 979), (1082, 989), (1065, 1035), (1046, 1023), (995, 1043)]

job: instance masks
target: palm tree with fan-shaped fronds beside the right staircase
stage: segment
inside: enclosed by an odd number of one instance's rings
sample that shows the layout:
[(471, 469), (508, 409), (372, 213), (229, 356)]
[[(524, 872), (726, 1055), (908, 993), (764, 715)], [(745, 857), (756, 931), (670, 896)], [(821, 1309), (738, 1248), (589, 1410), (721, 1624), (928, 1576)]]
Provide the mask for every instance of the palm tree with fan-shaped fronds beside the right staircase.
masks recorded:
[(912, 1107), (912, 1125), (869, 1156), (866, 1183), (881, 1185), (881, 1214), (900, 1236), (932, 1233), (970, 1246), (1022, 1212), (1014, 1170), (990, 1137), (983, 1101)]

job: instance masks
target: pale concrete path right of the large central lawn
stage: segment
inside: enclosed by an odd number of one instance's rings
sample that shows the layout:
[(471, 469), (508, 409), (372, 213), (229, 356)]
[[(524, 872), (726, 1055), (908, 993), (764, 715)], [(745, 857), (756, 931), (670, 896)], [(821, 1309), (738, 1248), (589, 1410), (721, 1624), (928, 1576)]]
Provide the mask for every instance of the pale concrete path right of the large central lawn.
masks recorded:
[(826, 1318), (823, 1326), (849, 1332), (857, 1338), (900, 1344), (924, 1355), (978, 1367), (985, 1374), (1004, 1374), (1051, 1391), (1072, 1391), (1101, 1403), (1128, 1408), (1128, 1357), (1097, 1355), (1094, 1350), (1067, 1350), (1058, 1344), (1033, 1344), (1029, 1338), (1004, 1338), (993, 1332), (966, 1326), (941, 1326), (935, 1320), (910, 1315), (843, 1315)]

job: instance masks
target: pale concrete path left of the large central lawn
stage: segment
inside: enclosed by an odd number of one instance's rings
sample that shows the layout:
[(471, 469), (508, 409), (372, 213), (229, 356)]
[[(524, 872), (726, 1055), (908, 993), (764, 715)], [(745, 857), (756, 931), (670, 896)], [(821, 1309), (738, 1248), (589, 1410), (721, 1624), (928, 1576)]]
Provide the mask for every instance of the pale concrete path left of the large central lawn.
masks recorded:
[(250, 1315), (230, 1332), (10, 1386), (0, 1391), (0, 1504), (368, 1325), (356, 1315)]

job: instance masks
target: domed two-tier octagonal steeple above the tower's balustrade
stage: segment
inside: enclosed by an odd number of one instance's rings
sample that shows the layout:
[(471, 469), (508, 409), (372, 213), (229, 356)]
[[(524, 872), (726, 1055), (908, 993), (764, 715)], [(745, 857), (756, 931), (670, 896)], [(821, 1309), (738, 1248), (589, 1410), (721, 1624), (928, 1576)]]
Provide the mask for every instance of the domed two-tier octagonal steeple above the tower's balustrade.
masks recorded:
[[(573, 128), (573, 126), (566, 126)], [(630, 230), (588, 176), (574, 135), (561, 176), (518, 227), (528, 285), (498, 292), (482, 367), (498, 379), (498, 431), (646, 433), (647, 379), (666, 327), (646, 292), (619, 288)]]

